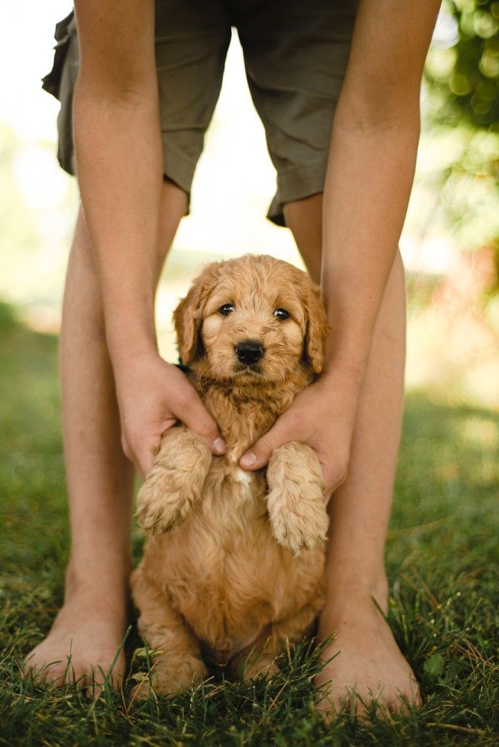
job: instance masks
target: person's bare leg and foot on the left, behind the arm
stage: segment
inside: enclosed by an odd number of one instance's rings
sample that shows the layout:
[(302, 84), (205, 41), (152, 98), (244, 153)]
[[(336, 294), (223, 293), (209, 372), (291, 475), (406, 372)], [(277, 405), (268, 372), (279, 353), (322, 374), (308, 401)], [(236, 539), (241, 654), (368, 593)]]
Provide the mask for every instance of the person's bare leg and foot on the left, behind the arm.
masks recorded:
[[(185, 214), (185, 193), (164, 183), (158, 275)], [(63, 684), (102, 681), (123, 638), (131, 570), (130, 517), (134, 468), (120, 444), (120, 415), (105, 341), (99, 283), (83, 212), (75, 229), (61, 328), (63, 441), (72, 548), (64, 604), (27, 669)], [(67, 656), (71, 652), (68, 667)], [(113, 678), (123, 677), (125, 660)]]

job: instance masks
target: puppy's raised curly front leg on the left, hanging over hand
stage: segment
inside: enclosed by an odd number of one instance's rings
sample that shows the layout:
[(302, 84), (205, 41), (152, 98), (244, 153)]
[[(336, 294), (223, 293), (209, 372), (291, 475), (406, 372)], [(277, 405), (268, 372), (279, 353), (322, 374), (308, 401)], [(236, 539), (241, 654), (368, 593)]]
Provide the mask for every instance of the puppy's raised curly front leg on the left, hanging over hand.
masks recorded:
[(169, 428), (137, 495), (140, 527), (164, 534), (182, 524), (201, 495), (210, 464), (211, 451), (201, 436), (183, 425)]

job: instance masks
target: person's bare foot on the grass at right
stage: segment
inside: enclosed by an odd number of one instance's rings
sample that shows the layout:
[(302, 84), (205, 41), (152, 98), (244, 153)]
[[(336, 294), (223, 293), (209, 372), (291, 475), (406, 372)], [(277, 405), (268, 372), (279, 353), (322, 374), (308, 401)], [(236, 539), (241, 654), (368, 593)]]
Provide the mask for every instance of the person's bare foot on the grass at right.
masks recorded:
[(325, 660), (335, 658), (315, 680), (321, 710), (349, 710), (362, 716), (374, 700), (391, 713), (406, 710), (407, 704), (421, 705), (412, 669), (373, 601), (350, 604), (341, 614), (324, 610), (320, 637), (335, 631), (335, 639), (323, 652)]

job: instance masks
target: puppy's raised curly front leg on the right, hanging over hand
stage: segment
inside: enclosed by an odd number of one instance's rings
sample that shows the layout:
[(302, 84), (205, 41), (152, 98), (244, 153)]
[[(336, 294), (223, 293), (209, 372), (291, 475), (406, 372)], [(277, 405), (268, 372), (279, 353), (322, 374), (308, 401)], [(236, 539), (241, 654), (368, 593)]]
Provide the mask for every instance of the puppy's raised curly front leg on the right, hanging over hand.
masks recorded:
[(298, 441), (279, 446), (267, 467), (267, 509), (273, 536), (295, 554), (326, 539), (323, 477), (314, 450)]

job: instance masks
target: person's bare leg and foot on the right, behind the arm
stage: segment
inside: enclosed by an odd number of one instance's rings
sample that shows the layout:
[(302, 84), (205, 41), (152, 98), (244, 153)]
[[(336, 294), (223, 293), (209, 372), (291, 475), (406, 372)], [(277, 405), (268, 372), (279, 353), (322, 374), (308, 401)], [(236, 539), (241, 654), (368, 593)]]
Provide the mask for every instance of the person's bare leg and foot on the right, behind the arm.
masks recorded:
[[(320, 195), (285, 207), (286, 222), (316, 282), (321, 213)], [(405, 341), (405, 283), (397, 252), (359, 397), (347, 479), (329, 501), (326, 605), (319, 636), (336, 634), (325, 659), (341, 653), (317, 678), (317, 686), (329, 693), (325, 709), (341, 707), (353, 687), (367, 702), (371, 692), (379, 692), (388, 707), (400, 706), (399, 693), (418, 701), (409, 664), (373, 601), (387, 610), (384, 550), (400, 441)], [(362, 710), (362, 704), (357, 707)]]

